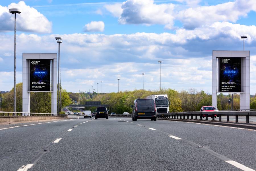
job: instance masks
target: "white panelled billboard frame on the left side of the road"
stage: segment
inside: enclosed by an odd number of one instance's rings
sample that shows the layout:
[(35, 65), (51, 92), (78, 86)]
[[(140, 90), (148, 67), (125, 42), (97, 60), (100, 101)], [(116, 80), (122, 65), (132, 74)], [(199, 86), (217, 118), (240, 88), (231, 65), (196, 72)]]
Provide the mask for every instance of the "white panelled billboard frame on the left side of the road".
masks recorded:
[[(57, 53), (22, 54), (22, 112), (30, 112), (30, 60), (51, 60), (51, 113), (57, 113)], [(40, 91), (44, 92), (44, 91)]]

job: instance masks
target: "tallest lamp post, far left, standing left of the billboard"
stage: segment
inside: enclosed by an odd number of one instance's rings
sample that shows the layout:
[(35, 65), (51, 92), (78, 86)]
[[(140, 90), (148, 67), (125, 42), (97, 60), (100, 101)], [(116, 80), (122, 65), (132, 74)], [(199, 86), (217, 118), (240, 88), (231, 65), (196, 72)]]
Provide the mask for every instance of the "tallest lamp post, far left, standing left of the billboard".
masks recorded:
[[(18, 8), (11, 8), (9, 12), (14, 14), (14, 95), (13, 95), (13, 111), (16, 112), (16, 14), (21, 13)], [(15, 114), (14, 114), (15, 115)]]

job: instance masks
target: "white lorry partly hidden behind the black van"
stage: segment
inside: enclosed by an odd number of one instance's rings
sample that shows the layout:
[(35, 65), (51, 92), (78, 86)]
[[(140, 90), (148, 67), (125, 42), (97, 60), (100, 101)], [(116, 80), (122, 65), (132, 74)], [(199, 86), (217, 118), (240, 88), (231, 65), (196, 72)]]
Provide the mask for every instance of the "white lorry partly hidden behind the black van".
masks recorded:
[(156, 113), (170, 113), (167, 94), (153, 94), (149, 95), (147, 99), (154, 99), (156, 104)]

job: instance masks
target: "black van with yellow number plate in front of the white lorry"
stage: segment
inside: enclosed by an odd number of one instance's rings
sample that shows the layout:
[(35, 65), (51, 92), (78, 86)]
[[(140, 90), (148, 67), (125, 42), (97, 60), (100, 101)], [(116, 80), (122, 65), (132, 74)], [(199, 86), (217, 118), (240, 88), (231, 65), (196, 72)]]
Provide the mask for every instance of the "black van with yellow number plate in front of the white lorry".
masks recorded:
[(153, 99), (136, 99), (133, 108), (133, 121), (137, 119), (151, 119), (156, 121), (156, 105)]

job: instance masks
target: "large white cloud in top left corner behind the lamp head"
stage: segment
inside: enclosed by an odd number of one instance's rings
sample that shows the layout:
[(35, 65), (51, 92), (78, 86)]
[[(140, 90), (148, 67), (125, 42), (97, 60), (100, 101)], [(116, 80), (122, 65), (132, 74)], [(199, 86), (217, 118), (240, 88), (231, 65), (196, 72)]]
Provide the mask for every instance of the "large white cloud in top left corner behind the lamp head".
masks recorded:
[(10, 8), (21, 9), (21, 13), (16, 14), (16, 30), (38, 33), (51, 32), (52, 23), (36, 9), (26, 5), (24, 1), (11, 3), (8, 7), (0, 5), (0, 30), (14, 30), (14, 15), (9, 13)]

